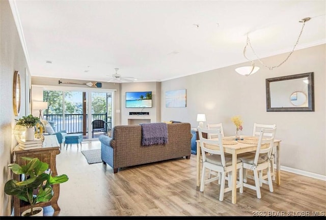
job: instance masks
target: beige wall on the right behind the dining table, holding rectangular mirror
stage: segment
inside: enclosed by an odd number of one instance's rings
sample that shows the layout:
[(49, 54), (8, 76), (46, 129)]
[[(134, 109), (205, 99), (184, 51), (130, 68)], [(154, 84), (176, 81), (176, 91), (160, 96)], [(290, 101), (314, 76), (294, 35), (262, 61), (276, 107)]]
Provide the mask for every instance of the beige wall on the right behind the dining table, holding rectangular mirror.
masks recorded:
[[(234, 115), (242, 118), (243, 135), (252, 134), (254, 122), (275, 123), (276, 138), (282, 140), (281, 165), (325, 176), (325, 53), (325, 44), (297, 50), (281, 67), (271, 71), (256, 61), (260, 70), (248, 77), (234, 71), (242, 65), (234, 65), (162, 82), (161, 119), (186, 121), (197, 127), (197, 113), (205, 113), (206, 122), (223, 123), (225, 135), (235, 133), (230, 119)], [(282, 60), (286, 55), (263, 61), (276, 65), (275, 60)], [(266, 112), (266, 78), (309, 72), (314, 72), (314, 112)], [(187, 107), (166, 108), (165, 91), (184, 88)]]

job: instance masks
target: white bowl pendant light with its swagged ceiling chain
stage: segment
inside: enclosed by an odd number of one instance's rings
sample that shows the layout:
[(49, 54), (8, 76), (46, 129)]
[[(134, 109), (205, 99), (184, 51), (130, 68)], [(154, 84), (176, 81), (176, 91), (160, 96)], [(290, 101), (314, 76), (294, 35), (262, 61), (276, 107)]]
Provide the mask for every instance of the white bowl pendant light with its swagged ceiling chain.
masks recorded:
[(251, 75), (251, 74), (256, 73), (256, 72), (259, 70), (259, 67), (256, 67), (256, 66), (255, 66), (254, 61), (251, 60), (251, 59), (249, 59), (249, 58), (246, 56), (247, 46), (249, 46), (249, 47), (252, 49), (252, 51), (253, 51), (253, 53), (255, 54), (255, 56), (257, 57), (258, 61), (259, 61), (260, 64), (263, 65), (264, 67), (267, 67), (269, 70), (273, 70), (274, 68), (280, 67), (282, 64), (284, 64), (284, 62), (286, 62), (286, 60), (288, 60), (288, 58), (289, 58), (289, 57), (291, 56), (291, 54), (294, 52), (294, 49), (295, 49), (296, 45), (298, 44), (298, 42), (299, 42), (299, 40), (300, 40), (300, 37), (301, 37), (301, 34), (302, 34), (303, 30), (304, 30), (305, 23), (306, 23), (307, 21), (309, 21), (309, 20), (310, 20), (310, 18), (307, 17), (307, 18), (303, 18), (303, 19), (301, 19), (301, 20), (299, 21), (299, 22), (302, 22), (303, 24), (302, 24), (301, 32), (300, 32), (300, 34), (299, 34), (299, 36), (298, 36), (298, 38), (297, 38), (297, 40), (296, 40), (296, 42), (295, 42), (295, 44), (294, 44), (294, 46), (293, 46), (292, 51), (287, 55), (287, 57), (286, 57), (286, 58), (285, 58), (285, 59), (284, 59), (284, 60), (283, 60), (279, 65), (277, 65), (277, 66), (273, 66), (273, 67), (270, 67), (270, 66), (265, 65), (265, 64), (260, 60), (260, 58), (259, 58), (258, 55), (256, 54), (255, 50), (254, 50), (253, 47), (251, 46), (250, 39), (249, 39), (249, 35), (248, 35), (248, 33), (247, 33), (247, 44), (246, 44), (246, 46), (244, 46), (244, 48), (243, 48), (243, 56), (244, 56), (244, 58), (246, 58), (246, 59), (248, 59), (248, 60), (250, 61), (251, 66), (239, 67), (239, 68), (236, 68), (235, 71), (236, 71), (238, 74), (241, 74), (241, 75), (243, 75), (243, 76), (249, 76), (249, 75)]

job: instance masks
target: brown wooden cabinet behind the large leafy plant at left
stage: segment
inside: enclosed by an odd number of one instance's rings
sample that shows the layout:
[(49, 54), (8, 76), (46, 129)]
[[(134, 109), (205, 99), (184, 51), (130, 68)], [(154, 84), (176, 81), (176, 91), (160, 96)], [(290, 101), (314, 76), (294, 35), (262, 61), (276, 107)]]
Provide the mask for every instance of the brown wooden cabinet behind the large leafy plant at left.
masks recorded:
[[(41, 147), (37, 149), (31, 149), (31, 150), (16, 150), (11, 155), (12, 163), (16, 163), (20, 166), (26, 165), (27, 162), (22, 160), (22, 156), (26, 156), (28, 158), (38, 158), (40, 161), (47, 163), (49, 165), (49, 169), (52, 171), (53, 176), (57, 176), (57, 165), (56, 165), (56, 157), (57, 154), (60, 153), (60, 147)], [(16, 161), (14, 162), (14, 154), (16, 154)], [(14, 175), (14, 179), (18, 180), (20, 179), (20, 175)], [(58, 206), (58, 199), (60, 195), (60, 184), (53, 184), (53, 197), (49, 202), (39, 202), (35, 204), (34, 207), (45, 207), (51, 205), (55, 211), (59, 211), (60, 207)], [(21, 212), (27, 210), (30, 208), (30, 205), (23, 205), (21, 204), (21, 201), (18, 199), (18, 197), (13, 196), (14, 201), (14, 213), (15, 216), (20, 216)]]

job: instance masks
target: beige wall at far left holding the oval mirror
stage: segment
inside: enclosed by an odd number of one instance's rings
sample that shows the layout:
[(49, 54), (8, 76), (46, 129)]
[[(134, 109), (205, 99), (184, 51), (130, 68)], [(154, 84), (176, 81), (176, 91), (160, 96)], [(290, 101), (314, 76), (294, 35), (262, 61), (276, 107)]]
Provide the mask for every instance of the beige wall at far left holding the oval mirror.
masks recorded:
[[(18, 116), (13, 111), (13, 78), (18, 71), (21, 80), (21, 105)], [(11, 152), (17, 141), (13, 136), (14, 119), (18, 119), (29, 110), (26, 101), (26, 84), (29, 85), (28, 66), (19, 40), (19, 35), (10, 9), (9, 2), (0, 1), (0, 216), (10, 215), (10, 197), (4, 193), (5, 183), (11, 179), (8, 164)], [(28, 80), (28, 82), (26, 82)], [(28, 97), (28, 96), (27, 96)]]

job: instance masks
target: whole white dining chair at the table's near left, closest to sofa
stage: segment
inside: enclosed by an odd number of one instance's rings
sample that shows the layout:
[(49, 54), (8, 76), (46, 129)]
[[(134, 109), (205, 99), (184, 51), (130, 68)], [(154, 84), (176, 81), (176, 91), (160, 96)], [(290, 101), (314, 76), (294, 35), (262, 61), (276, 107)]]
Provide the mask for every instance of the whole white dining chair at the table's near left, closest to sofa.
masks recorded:
[[(209, 138), (204, 138), (202, 133), (218, 135), (218, 140), (212, 140)], [(224, 199), (224, 193), (232, 191), (232, 184), (225, 187), (226, 174), (232, 173), (232, 156), (225, 155), (224, 148), (222, 145), (222, 132), (220, 129), (202, 129), (198, 128), (201, 153), (202, 153), (202, 176), (200, 183), (200, 192), (204, 191), (205, 184), (212, 182), (214, 180), (220, 179), (220, 201)], [(208, 154), (206, 154), (208, 153)], [(236, 169), (239, 169), (239, 181), (237, 181), (236, 188), (240, 188), (240, 193), (243, 193), (243, 181), (242, 181), (242, 163), (237, 160), (235, 165)], [(219, 173), (219, 175), (206, 179), (206, 169), (213, 170)]]

